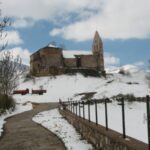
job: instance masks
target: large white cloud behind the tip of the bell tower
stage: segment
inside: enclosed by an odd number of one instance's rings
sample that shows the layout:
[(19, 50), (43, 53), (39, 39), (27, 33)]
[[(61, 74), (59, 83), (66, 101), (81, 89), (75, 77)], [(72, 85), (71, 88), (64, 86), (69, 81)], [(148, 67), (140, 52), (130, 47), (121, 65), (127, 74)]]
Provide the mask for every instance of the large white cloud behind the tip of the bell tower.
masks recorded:
[(51, 36), (85, 41), (98, 30), (103, 38), (128, 39), (150, 37), (149, 0), (106, 0), (100, 11), (79, 21), (50, 31)]

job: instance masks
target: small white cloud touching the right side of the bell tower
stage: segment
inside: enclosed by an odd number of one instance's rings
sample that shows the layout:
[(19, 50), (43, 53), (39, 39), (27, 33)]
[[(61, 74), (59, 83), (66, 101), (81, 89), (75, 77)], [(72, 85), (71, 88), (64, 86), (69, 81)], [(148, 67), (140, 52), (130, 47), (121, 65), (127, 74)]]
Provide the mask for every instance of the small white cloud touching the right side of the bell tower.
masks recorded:
[(113, 56), (111, 53), (104, 53), (105, 66), (117, 66), (120, 64), (120, 58)]

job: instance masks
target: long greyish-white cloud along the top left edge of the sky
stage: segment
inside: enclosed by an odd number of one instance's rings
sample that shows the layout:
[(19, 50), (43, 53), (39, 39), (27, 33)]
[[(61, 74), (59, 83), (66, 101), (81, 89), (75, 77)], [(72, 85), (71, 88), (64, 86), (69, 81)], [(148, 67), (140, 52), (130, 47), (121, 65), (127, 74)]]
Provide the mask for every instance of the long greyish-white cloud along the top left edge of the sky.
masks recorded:
[(72, 13), (79, 15), (99, 9), (98, 0), (2, 0), (2, 10), (5, 15), (34, 20), (63, 19)]

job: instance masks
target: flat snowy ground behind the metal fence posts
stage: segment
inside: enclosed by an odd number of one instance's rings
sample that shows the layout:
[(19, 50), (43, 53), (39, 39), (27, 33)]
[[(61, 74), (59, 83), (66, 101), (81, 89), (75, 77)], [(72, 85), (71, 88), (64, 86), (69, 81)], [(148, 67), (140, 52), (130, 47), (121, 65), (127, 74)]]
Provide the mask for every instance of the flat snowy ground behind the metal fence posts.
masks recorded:
[[(98, 104), (98, 123), (105, 126), (105, 106)], [(118, 102), (108, 103), (108, 127), (119, 133), (122, 131), (122, 110)], [(95, 119), (95, 105), (90, 106), (91, 121)], [(83, 108), (80, 108), (81, 116), (83, 117)], [(77, 107), (79, 115), (79, 107)], [(85, 118), (88, 119), (88, 106), (85, 105)], [(126, 135), (148, 143), (147, 137), (147, 119), (146, 119), (146, 104), (143, 102), (125, 102), (125, 125)]]

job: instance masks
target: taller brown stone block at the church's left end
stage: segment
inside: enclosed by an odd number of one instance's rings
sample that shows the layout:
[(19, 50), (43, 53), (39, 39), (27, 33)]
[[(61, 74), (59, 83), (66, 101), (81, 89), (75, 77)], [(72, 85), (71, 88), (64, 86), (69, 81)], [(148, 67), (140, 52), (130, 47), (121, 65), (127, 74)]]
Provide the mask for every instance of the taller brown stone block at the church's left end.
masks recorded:
[(30, 72), (34, 76), (62, 74), (62, 49), (44, 47), (30, 56), (30, 65)]

